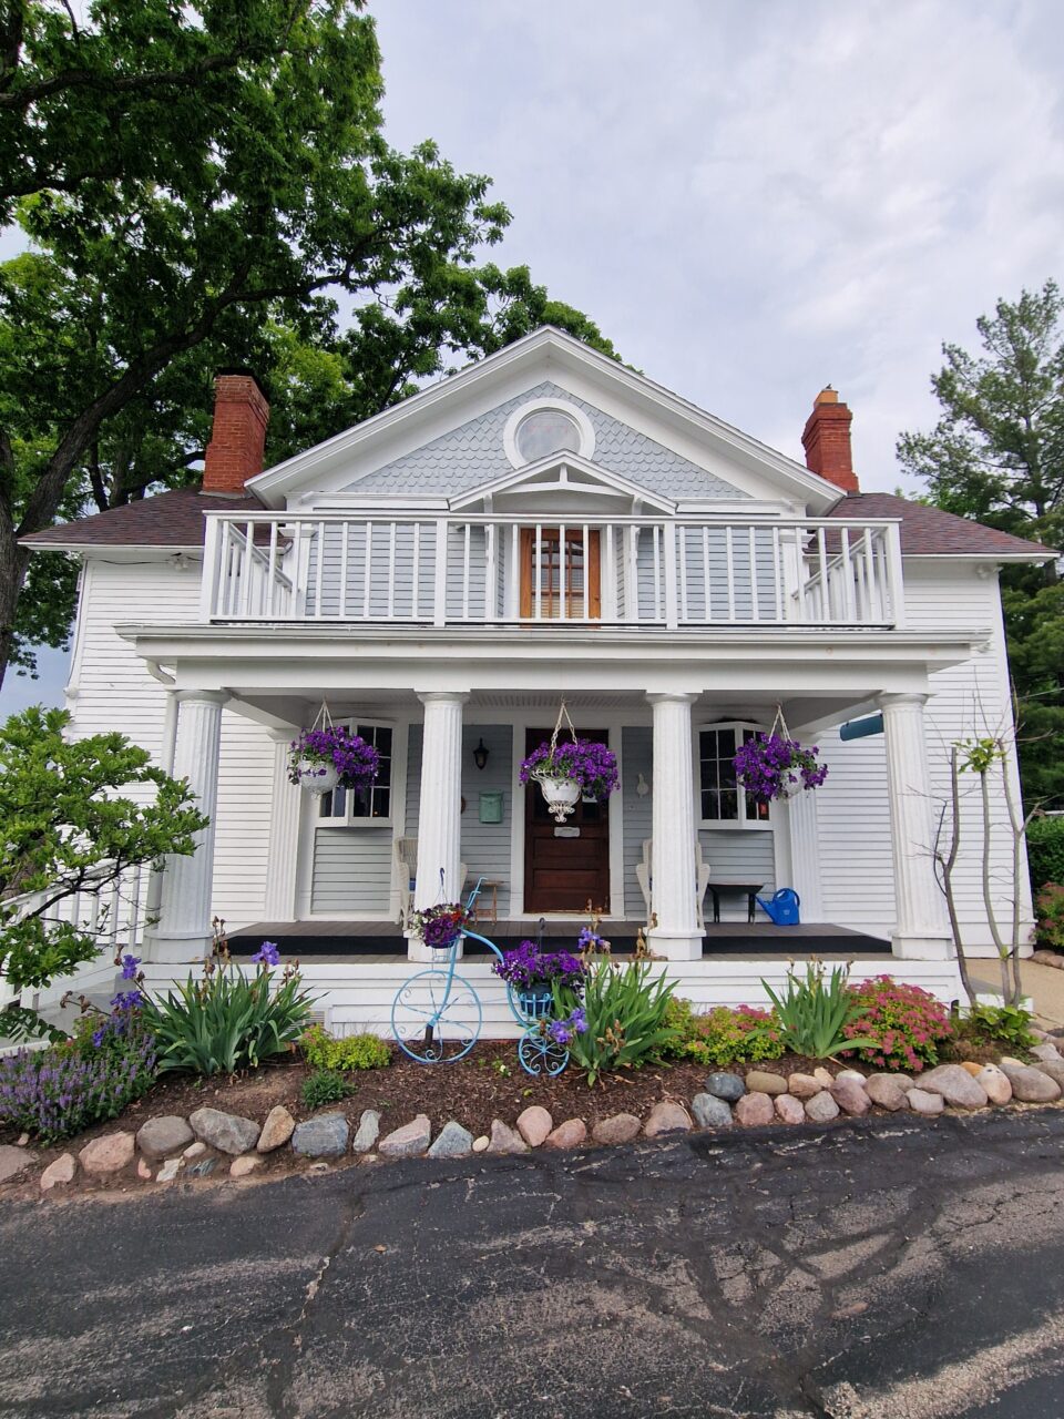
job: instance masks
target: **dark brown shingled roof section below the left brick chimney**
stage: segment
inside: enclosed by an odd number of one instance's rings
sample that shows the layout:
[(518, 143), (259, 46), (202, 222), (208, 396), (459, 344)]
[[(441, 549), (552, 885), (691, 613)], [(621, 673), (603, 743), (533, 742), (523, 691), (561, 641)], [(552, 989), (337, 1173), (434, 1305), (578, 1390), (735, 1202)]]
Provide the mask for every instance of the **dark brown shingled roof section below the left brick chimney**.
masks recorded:
[(153, 498), (126, 502), (121, 508), (96, 512), (77, 522), (61, 522), (24, 536), (23, 545), (40, 551), (62, 551), (94, 546), (157, 546), (174, 551), (194, 551), (203, 546), (204, 512), (227, 512), (247, 508), (261, 512), (257, 498), (228, 494), (200, 492), (199, 488), (176, 488)]

